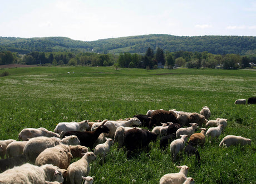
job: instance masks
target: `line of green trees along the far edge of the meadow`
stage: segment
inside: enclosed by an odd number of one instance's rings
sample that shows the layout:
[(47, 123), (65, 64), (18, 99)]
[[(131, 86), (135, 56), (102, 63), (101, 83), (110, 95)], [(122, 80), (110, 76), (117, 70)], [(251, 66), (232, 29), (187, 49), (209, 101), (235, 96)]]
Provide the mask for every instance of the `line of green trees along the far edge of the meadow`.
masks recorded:
[(31, 52), (19, 55), (10, 51), (0, 52), (0, 65), (4, 64), (28, 65), (73, 65), (73, 66), (112, 66), (122, 68), (223, 68), (238, 69), (253, 67), (256, 64), (256, 55), (241, 56), (238, 54), (211, 54), (208, 52), (164, 52), (147, 48), (145, 54), (124, 52), (119, 55), (99, 53), (72, 53), (72, 52)]

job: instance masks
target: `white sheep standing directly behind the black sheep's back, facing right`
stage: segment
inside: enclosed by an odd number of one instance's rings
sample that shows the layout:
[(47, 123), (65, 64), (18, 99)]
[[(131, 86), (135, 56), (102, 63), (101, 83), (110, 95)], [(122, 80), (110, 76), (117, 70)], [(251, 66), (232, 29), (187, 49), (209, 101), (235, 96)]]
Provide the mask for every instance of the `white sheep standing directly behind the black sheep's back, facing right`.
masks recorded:
[(88, 121), (84, 120), (81, 122), (60, 122), (55, 127), (54, 132), (58, 134), (65, 134), (68, 131), (82, 131), (89, 129)]

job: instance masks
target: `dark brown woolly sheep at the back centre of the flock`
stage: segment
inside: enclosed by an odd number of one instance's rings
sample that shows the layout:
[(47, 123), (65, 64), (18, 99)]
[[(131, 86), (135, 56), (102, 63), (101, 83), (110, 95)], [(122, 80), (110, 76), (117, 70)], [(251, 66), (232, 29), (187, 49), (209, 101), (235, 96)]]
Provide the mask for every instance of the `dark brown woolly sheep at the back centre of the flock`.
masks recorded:
[(173, 111), (168, 110), (155, 110), (151, 114), (151, 120), (149, 122), (149, 128), (152, 128), (153, 126), (161, 126), (161, 122), (177, 122), (177, 115)]

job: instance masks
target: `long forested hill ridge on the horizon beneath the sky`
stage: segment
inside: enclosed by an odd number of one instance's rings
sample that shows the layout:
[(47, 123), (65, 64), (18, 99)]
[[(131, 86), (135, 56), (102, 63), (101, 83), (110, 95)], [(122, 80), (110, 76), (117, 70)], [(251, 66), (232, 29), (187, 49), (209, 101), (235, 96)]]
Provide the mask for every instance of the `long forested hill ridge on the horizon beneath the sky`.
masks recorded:
[(256, 37), (197, 36), (179, 37), (168, 34), (149, 34), (131, 37), (100, 39), (92, 42), (66, 37), (14, 38), (0, 37), (0, 51), (10, 50), (19, 54), (38, 52), (96, 52), (118, 54), (123, 52), (145, 54), (147, 48), (164, 51), (204, 52), (212, 54), (255, 54)]

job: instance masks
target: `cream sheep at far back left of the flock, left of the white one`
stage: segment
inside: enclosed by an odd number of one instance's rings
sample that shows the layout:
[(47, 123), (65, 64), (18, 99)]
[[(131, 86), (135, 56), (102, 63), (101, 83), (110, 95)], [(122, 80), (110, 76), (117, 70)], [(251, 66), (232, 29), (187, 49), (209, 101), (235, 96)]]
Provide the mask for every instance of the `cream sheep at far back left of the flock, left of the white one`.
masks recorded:
[(56, 134), (55, 132), (49, 131), (43, 127), (40, 127), (38, 129), (33, 128), (27, 128), (23, 129), (21, 132), (19, 132), (18, 139), (19, 141), (28, 141), (28, 139), (31, 139), (33, 137), (59, 137), (59, 134)]

